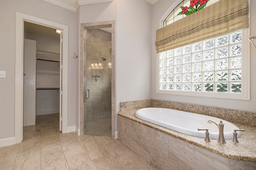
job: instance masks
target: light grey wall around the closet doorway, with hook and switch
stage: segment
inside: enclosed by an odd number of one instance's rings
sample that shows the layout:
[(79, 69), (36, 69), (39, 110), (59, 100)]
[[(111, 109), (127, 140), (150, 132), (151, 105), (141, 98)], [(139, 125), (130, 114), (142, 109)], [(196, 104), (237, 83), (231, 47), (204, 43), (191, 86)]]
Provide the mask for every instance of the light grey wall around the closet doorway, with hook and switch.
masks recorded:
[(76, 112), (76, 13), (42, 0), (1, 0), (0, 2), (0, 139), (15, 132), (15, 22), (16, 12), (68, 25), (68, 126), (75, 125)]

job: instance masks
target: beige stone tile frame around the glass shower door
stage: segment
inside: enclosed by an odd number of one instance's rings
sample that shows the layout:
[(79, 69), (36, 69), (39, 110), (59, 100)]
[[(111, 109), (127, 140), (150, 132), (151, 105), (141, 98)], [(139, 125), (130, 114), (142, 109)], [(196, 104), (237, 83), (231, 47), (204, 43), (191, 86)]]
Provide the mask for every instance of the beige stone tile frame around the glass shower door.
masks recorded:
[(111, 27), (112, 36), (111, 36), (111, 136), (115, 137), (115, 127), (116, 127), (116, 98), (115, 98), (115, 21), (101, 21), (101, 22), (90, 22), (90, 23), (81, 23), (80, 24), (80, 131), (78, 135), (84, 135), (84, 102), (85, 102), (85, 88), (84, 84), (86, 83), (84, 70), (86, 53), (84, 53), (84, 44), (87, 39), (87, 29), (97, 29), (97, 28), (106, 28)]

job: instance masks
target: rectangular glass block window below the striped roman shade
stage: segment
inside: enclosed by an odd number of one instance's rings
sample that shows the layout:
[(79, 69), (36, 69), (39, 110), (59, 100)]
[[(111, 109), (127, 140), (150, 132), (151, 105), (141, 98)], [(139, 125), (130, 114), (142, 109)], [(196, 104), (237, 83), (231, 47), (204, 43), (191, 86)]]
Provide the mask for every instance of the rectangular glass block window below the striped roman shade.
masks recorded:
[(159, 53), (159, 90), (242, 93), (242, 30)]

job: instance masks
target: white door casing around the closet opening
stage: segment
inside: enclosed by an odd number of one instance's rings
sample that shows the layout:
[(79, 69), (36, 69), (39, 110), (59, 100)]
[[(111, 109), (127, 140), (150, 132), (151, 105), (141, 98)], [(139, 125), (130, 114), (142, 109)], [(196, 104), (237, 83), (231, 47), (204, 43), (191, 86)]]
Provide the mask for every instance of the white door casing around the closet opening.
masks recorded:
[(63, 32), (62, 46), (62, 133), (67, 129), (68, 113), (68, 26), (16, 12), (16, 57), (15, 57), (15, 143), (23, 140), (23, 61), (24, 21), (35, 23)]

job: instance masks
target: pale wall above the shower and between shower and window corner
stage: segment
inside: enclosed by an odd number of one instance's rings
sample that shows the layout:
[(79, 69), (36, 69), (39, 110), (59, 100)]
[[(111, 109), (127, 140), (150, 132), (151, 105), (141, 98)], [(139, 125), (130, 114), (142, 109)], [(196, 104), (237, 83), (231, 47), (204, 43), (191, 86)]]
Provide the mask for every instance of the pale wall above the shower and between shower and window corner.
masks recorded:
[(145, 0), (80, 6), (80, 23), (116, 21), (116, 114), (120, 102), (150, 99), (151, 7)]

